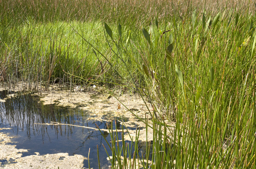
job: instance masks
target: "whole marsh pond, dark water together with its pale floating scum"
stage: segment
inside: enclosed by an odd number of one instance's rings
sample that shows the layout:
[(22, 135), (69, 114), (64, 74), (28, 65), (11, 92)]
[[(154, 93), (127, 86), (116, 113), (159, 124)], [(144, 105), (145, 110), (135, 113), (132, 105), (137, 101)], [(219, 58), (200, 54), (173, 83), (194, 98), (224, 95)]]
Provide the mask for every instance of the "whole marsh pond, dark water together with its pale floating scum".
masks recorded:
[[(99, 154), (100, 167), (109, 168), (111, 163), (106, 153), (111, 156), (106, 143), (111, 144), (109, 130), (116, 131), (118, 138), (125, 135), (128, 145), (133, 144), (129, 138), (138, 128), (144, 130), (143, 123), (117, 99), (133, 113), (147, 114), (143, 100), (137, 96), (116, 98), (92, 90), (72, 93), (52, 90), (39, 96), (2, 89), (0, 166), (98, 168)], [(142, 136), (138, 145), (141, 155), (144, 155), (143, 139)]]

